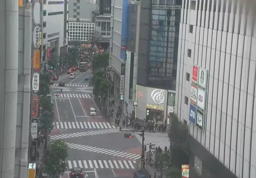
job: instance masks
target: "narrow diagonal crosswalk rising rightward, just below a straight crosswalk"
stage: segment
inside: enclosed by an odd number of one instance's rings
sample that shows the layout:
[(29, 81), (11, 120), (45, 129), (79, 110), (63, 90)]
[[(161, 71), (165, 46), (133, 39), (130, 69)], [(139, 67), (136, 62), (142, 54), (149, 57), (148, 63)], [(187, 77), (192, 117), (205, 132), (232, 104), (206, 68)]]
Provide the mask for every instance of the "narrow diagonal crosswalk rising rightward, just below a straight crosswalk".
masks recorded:
[[(59, 126), (60, 127), (60, 126)], [(71, 138), (71, 137), (78, 137), (78, 136), (87, 136), (87, 135), (96, 135), (96, 134), (111, 134), (121, 132), (119, 129), (104, 129), (104, 130), (97, 130), (97, 131), (88, 131), (88, 132), (78, 132), (72, 134), (59, 134), (59, 135), (51, 135), (51, 139), (64, 139), (64, 138)]]

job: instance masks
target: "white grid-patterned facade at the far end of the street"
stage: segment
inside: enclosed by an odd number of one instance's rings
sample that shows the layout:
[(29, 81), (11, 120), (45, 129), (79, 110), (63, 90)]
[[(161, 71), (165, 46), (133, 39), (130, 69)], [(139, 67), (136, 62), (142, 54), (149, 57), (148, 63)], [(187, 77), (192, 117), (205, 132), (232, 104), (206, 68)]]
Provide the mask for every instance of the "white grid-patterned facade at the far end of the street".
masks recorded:
[(91, 41), (94, 37), (94, 23), (68, 22), (68, 40)]

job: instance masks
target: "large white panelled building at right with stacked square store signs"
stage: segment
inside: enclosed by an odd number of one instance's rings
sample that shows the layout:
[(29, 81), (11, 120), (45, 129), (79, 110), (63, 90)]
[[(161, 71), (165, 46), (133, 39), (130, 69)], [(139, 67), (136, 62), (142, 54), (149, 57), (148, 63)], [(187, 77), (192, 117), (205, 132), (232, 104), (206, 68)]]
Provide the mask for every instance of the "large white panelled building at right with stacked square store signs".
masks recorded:
[(183, 0), (175, 113), (190, 178), (256, 177), (256, 1)]

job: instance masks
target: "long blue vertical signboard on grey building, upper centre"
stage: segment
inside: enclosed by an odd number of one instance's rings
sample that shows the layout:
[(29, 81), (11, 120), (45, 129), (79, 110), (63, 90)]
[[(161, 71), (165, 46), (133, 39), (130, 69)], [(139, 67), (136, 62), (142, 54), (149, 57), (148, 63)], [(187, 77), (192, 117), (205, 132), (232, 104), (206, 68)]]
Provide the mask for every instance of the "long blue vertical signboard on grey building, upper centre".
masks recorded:
[(127, 23), (128, 23), (128, 0), (123, 0), (122, 9), (122, 31), (121, 31), (121, 59), (126, 59), (126, 38), (127, 38)]

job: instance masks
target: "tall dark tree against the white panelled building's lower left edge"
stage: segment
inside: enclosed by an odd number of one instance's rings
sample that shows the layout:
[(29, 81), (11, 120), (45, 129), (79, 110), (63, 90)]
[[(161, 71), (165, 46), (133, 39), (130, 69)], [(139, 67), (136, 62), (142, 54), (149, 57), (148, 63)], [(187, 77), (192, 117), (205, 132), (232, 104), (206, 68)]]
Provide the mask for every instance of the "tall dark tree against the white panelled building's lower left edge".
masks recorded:
[(171, 156), (172, 165), (181, 168), (183, 164), (189, 164), (190, 148), (189, 148), (189, 129), (176, 114), (171, 114), (171, 126), (169, 130), (169, 138), (171, 140)]

